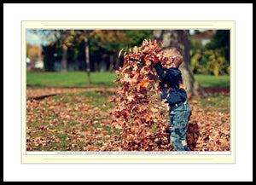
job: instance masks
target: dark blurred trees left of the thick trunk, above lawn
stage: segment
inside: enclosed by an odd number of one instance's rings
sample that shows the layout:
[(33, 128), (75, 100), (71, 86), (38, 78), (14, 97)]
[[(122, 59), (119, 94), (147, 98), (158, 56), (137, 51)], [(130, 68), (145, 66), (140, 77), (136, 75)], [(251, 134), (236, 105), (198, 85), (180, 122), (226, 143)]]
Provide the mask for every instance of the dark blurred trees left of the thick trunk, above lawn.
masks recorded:
[[(144, 38), (149, 39), (152, 35), (150, 30), (35, 32), (49, 40), (49, 44), (43, 46), (44, 70), (47, 72), (55, 71), (55, 61), (61, 61), (61, 72), (67, 72), (67, 66), (76, 61), (81, 62), (79, 71), (86, 71), (88, 68), (90, 71), (100, 71), (100, 66), (103, 64), (111, 72), (122, 65), (120, 63), (122, 59), (119, 60), (117, 56), (120, 49), (140, 45)], [(88, 54), (86, 54), (86, 48)]]

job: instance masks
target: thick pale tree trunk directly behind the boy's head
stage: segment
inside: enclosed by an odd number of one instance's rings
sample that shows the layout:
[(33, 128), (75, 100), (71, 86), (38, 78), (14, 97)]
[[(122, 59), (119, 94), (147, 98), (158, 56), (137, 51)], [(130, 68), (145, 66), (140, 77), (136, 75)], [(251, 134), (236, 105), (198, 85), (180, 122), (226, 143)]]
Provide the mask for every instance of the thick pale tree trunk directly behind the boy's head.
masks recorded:
[(184, 85), (187, 87), (187, 93), (189, 95), (208, 95), (207, 91), (195, 80), (190, 66), (189, 30), (154, 30), (154, 39), (163, 42), (163, 49), (175, 47), (183, 55), (183, 64), (180, 66), (180, 70), (183, 74)]

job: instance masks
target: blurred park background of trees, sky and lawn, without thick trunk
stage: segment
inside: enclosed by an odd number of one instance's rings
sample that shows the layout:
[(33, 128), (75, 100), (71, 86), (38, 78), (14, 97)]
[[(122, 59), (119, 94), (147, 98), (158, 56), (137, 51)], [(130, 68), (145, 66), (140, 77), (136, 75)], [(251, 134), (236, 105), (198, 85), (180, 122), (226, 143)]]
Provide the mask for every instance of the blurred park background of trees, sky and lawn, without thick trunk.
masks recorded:
[[(160, 32), (162, 31), (28, 29), (27, 87), (113, 86), (114, 71), (124, 61), (122, 55), (118, 57), (119, 50), (141, 46), (144, 39), (153, 39), (158, 37), (157, 34), (162, 35), (159, 38), (164, 43), (165, 39), (168, 41), (166, 37), (170, 36), (171, 41), (177, 39), (177, 44), (180, 42), (183, 43), (183, 48), (189, 48), (184, 52), (189, 53), (190, 71), (204, 87), (229, 87), (229, 30)], [(183, 38), (184, 33), (187, 38)]]

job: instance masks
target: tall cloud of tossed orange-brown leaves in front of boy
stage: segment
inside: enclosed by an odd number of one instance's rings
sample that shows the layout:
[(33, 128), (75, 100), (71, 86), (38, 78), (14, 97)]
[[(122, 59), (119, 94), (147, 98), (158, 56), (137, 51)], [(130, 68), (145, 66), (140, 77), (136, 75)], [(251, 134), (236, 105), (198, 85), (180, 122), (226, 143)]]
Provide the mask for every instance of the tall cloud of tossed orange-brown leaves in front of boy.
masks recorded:
[[(121, 85), (111, 102), (113, 125), (122, 130), (125, 151), (160, 151), (171, 147), (166, 132), (169, 124), (164, 113), (167, 107), (160, 101), (158, 76), (153, 63), (170, 65), (172, 57), (162, 50), (156, 40), (143, 41), (124, 54), (124, 66), (116, 71), (115, 83)], [(122, 49), (119, 52), (121, 54)]]

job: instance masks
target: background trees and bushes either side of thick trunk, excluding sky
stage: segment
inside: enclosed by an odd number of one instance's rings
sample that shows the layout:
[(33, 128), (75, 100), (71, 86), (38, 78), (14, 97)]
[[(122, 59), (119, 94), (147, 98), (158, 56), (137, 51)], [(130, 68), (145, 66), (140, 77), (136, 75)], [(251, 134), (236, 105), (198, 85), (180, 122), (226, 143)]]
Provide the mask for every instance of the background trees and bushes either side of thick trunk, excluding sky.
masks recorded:
[[(38, 32), (38, 31), (37, 31)], [(100, 71), (102, 63), (108, 71), (122, 65), (118, 59), (119, 49), (140, 45), (144, 38), (152, 38), (152, 30), (92, 30), (87, 31), (39, 31), (49, 40), (43, 46), (44, 70), (53, 72), (54, 62), (62, 61), (61, 71), (75, 61), (82, 62), (79, 71)], [(195, 34), (202, 34), (196, 32)], [(51, 36), (51, 37), (50, 37)], [(203, 45), (190, 37), (190, 63), (194, 73), (229, 75), (230, 74), (230, 31), (218, 30), (210, 43)], [(89, 48), (89, 62), (86, 61), (86, 42)], [(27, 56), (37, 58), (40, 48), (27, 44)]]

